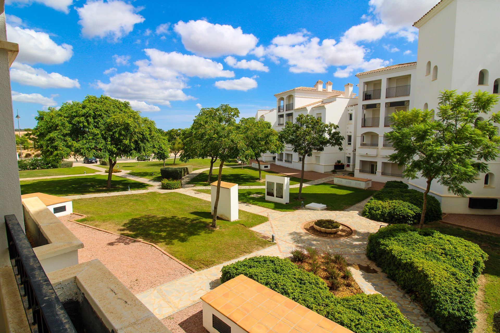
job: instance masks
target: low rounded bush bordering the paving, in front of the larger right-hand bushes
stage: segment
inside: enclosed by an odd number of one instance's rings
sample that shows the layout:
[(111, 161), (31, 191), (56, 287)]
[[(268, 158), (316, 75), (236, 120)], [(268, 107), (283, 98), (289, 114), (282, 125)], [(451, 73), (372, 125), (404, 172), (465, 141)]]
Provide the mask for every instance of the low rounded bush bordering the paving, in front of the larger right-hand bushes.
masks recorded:
[(417, 223), (422, 211), (409, 202), (401, 200), (380, 201), (371, 199), (362, 211), (362, 215), (368, 219), (386, 223)]

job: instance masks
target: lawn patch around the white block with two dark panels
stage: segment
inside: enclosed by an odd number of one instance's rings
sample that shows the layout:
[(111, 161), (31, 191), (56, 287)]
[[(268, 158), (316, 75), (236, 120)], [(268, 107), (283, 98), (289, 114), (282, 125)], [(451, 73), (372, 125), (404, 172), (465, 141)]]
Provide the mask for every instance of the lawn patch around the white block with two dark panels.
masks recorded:
[[(210, 190), (196, 190), (210, 193)], [(291, 212), (300, 208), (301, 201), (304, 206), (311, 202), (326, 205), (326, 210), (344, 210), (368, 198), (375, 191), (362, 190), (354, 187), (333, 184), (311, 185), (302, 188), (302, 199), (297, 200), (298, 187), (290, 189), (290, 203), (287, 205), (277, 202), (265, 201), (264, 189), (248, 189), (238, 191), (238, 200), (252, 205), (275, 209), (281, 212)], [(250, 197), (252, 194), (262, 194), (261, 197)]]

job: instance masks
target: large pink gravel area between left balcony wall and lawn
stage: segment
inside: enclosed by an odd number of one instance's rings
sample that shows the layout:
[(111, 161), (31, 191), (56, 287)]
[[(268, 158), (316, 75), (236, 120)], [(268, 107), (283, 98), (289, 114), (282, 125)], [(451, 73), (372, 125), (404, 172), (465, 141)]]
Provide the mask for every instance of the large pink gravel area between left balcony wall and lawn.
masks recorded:
[(133, 294), (176, 280), (192, 272), (154, 247), (59, 219), (83, 243), (78, 262), (99, 259)]

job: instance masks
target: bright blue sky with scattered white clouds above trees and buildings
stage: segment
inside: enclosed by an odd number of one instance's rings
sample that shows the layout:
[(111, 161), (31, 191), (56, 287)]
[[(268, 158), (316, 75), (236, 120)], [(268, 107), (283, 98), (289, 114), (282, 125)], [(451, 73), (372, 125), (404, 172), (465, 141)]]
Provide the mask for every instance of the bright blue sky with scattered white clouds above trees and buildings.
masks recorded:
[(253, 116), (280, 91), (415, 61), (411, 24), (436, 1), (7, 0), (14, 113), (33, 127), (37, 110), (107, 94), (165, 130), (221, 103)]

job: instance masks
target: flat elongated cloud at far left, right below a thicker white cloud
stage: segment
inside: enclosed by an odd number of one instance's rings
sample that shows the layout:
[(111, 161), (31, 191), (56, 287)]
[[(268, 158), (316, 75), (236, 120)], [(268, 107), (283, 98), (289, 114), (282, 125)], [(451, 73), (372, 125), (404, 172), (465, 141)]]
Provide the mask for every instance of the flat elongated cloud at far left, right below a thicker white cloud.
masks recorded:
[(77, 79), (70, 79), (59, 73), (47, 73), (42, 68), (14, 62), (10, 67), (10, 79), (25, 85), (40, 88), (79, 88)]

